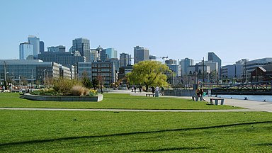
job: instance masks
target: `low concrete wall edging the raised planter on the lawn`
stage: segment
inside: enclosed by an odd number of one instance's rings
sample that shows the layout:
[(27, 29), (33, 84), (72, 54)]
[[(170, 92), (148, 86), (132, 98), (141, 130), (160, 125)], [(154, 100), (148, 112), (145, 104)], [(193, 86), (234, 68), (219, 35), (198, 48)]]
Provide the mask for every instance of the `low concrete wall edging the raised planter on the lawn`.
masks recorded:
[(34, 100), (34, 101), (102, 101), (103, 95), (98, 94), (98, 96), (38, 96), (31, 94), (24, 94), (24, 98)]

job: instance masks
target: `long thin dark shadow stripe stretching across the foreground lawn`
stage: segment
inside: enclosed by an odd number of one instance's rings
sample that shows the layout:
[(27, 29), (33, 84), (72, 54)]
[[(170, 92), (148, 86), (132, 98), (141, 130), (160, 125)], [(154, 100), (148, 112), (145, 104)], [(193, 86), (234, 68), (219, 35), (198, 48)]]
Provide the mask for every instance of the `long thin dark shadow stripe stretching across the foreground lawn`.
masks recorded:
[(50, 140), (30, 140), (30, 141), (25, 141), (25, 142), (3, 143), (3, 144), (0, 144), (0, 147), (12, 147), (12, 146), (16, 146), (16, 145), (38, 144), (38, 143), (54, 142), (54, 141), (60, 141), (60, 140), (78, 140), (78, 139), (82, 139), (82, 138), (84, 139), (84, 138), (98, 138), (98, 137), (115, 137), (115, 136), (141, 135), (141, 134), (151, 134), (151, 133), (160, 133), (160, 132), (175, 132), (175, 131), (187, 131), (187, 130), (205, 130), (205, 129), (212, 129), (212, 128), (226, 128), (226, 127), (234, 127), (234, 126), (239, 126), (239, 125), (256, 125), (256, 124), (265, 124), (265, 123), (272, 123), (272, 121), (251, 122), (251, 123), (236, 123), (236, 124), (229, 124), (229, 125), (215, 125), (215, 126), (210, 126), (210, 127), (199, 127), (199, 128), (179, 128), (179, 129), (170, 129), (170, 130), (116, 133), (116, 134), (112, 134), (112, 135), (62, 137), (62, 138), (50, 139)]

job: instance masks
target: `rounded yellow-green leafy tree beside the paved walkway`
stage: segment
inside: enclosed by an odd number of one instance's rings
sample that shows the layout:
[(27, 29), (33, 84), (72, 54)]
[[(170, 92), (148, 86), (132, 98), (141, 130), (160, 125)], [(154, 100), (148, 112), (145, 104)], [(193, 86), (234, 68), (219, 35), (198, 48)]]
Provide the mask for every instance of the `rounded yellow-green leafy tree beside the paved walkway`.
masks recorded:
[(171, 72), (166, 64), (162, 64), (159, 61), (142, 61), (133, 65), (132, 72), (128, 73), (126, 77), (130, 84), (145, 85), (148, 86), (166, 86), (166, 74), (165, 72)]

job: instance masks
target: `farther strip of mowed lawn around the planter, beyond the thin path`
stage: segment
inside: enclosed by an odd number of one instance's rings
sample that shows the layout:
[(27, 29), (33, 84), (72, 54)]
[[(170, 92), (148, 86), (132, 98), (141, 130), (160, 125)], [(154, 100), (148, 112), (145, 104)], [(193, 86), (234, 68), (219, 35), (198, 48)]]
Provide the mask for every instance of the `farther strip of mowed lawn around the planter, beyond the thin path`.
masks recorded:
[(154, 98), (130, 94), (104, 94), (100, 102), (30, 101), (18, 93), (0, 93), (0, 107), (12, 108), (120, 108), (120, 109), (237, 109), (233, 106), (208, 105), (205, 101), (183, 98)]

